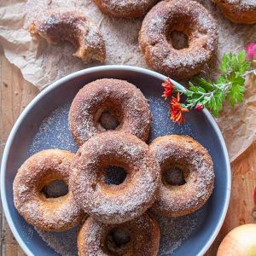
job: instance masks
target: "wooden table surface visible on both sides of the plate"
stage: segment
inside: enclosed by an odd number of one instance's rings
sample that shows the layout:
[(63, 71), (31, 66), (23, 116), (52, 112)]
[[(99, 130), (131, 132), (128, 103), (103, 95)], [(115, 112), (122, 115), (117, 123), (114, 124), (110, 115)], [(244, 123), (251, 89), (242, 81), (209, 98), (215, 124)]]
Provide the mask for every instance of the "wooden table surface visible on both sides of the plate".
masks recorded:
[[(26, 105), (38, 94), (38, 89), (26, 82), (20, 70), (11, 65), (0, 49), (0, 152), (9, 136), (9, 132)], [(224, 236), (240, 224), (256, 223), (253, 218), (253, 189), (256, 187), (256, 143), (232, 163), (232, 190), (230, 208), (216, 241), (207, 256), (216, 255), (219, 242)], [(25, 255), (15, 241), (4, 218), (0, 205), (1, 255)], [(191, 255), (193, 256), (193, 255)]]

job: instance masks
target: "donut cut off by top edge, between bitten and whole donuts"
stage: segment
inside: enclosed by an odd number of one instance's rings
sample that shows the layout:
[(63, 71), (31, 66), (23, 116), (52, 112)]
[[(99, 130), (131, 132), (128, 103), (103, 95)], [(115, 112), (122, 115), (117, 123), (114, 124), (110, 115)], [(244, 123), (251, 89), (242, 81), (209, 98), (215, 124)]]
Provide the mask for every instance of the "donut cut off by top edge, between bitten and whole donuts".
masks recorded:
[(158, 0), (93, 0), (103, 13), (132, 19), (145, 15)]

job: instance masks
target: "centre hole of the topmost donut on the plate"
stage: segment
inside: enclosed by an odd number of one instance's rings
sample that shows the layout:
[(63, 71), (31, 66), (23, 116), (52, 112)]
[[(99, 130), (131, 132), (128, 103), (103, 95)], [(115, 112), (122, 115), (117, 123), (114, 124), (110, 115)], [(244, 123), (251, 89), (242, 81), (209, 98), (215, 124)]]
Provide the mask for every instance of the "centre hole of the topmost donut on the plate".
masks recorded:
[(105, 131), (116, 130), (120, 125), (120, 115), (110, 110), (104, 110), (99, 114), (98, 123)]

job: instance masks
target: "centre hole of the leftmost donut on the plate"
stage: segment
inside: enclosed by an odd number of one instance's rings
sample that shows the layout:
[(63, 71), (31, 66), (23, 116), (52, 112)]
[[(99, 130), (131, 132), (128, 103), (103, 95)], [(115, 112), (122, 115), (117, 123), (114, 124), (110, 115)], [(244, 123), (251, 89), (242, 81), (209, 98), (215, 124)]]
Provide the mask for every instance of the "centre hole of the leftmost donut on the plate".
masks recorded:
[(44, 185), (41, 193), (46, 199), (61, 197), (67, 195), (68, 186), (63, 180), (56, 179)]

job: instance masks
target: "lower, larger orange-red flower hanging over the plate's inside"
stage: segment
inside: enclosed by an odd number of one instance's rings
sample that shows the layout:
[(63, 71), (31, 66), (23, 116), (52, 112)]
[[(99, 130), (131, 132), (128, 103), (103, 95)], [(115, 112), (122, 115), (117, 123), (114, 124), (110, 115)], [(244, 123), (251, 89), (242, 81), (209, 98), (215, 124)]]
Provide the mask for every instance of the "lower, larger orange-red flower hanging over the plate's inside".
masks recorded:
[(189, 112), (188, 108), (182, 108), (182, 104), (180, 101), (180, 95), (177, 93), (177, 98), (172, 97), (172, 101), (170, 103), (170, 109), (171, 109), (171, 119), (174, 123), (177, 123), (178, 125), (185, 123), (185, 118), (183, 117), (183, 113)]

